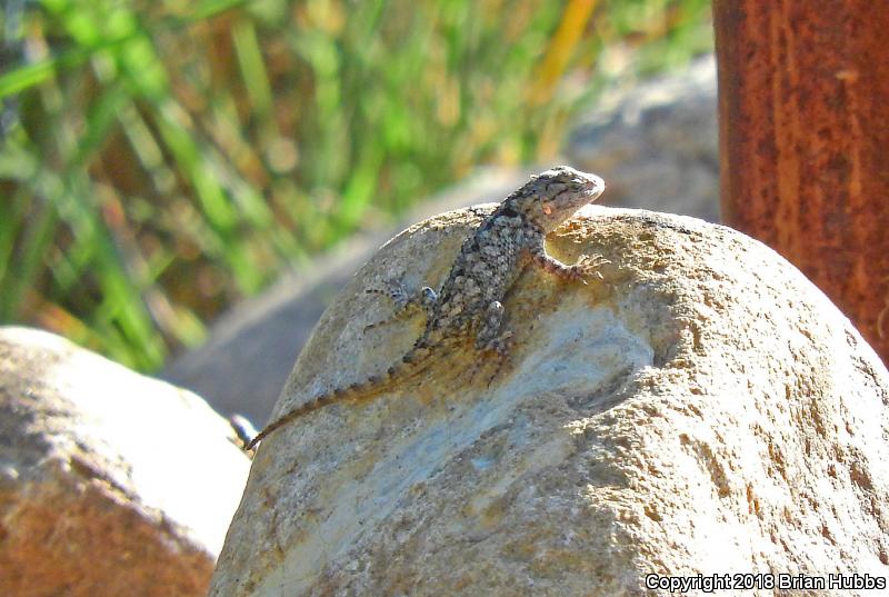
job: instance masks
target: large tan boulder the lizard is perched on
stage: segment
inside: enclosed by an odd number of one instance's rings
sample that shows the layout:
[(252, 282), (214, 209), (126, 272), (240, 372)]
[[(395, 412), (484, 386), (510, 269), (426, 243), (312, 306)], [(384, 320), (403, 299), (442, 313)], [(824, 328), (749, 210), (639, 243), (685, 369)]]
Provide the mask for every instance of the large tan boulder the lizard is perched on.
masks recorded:
[[(466, 221), (418, 225), (358, 272), (278, 414), (410, 346), (418, 320), (363, 331), (391, 307), (361, 289), (402, 273), (439, 283)], [(691, 218), (590, 207), (548, 242), (567, 262), (611, 263), (588, 286), (522, 276), (506, 305), (512, 365), (489, 386), (486, 369), (470, 377), (471, 351), (453, 351), (260, 446), (210, 595), (889, 577), (889, 374), (818, 289), (763, 245)]]

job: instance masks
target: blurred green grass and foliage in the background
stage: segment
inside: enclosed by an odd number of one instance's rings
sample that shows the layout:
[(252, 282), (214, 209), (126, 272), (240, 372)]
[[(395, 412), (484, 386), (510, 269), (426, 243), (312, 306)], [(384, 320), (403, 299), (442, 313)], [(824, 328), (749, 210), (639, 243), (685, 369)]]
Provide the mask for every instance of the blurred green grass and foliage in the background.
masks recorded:
[(356, 228), (543, 160), (707, 0), (7, 0), (0, 320), (142, 370)]

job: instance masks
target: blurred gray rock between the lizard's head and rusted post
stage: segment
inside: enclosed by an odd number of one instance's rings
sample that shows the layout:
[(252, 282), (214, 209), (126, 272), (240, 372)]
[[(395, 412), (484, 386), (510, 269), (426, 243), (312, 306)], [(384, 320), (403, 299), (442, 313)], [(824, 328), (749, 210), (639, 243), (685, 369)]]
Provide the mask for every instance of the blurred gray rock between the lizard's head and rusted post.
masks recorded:
[(716, 61), (612, 93), (582, 119), (566, 153), (608, 182), (603, 205), (719, 220)]

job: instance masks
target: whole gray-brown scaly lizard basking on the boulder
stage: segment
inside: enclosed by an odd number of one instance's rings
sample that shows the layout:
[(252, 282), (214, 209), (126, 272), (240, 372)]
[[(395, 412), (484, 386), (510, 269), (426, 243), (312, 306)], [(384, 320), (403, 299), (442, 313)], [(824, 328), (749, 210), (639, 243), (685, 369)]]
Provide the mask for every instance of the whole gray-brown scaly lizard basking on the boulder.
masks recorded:
[(370, 376), (344, 388), (321, 394), (266, 426), (247, 445), (252, 449), (276, 429), (298, 417), (357, 395), (384, 389), (398, 379), (411, 377), (430, 364), (436, 351), (465, 338), (475, 339), (480, 352), (508, 354), (511, 331), (501, 330), (501, 302), (516, 279), (529, 265), (567, 280), (586, 283), (601, 261), (566, 265), (547, 253), (545, 240), (578, 209), (595, 201), (605, 190), (601, 178), (568, 166), (532, 176), (485, 218), (460, 248), (439, 292), (424, 287), (419, 297), (408, 298), (402, 289), (389, 293), (399, 309), (420, 307), (427, 312), (426, 328), (399, 361), (382, 375)]

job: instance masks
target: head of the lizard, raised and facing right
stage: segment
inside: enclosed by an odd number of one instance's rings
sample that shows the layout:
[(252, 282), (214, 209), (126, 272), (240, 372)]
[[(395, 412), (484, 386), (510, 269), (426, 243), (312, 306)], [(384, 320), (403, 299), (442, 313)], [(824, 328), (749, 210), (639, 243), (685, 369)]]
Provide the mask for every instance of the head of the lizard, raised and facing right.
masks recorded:
[(605, 181), (598, 176), (570, 166), (557, 166), (532, 176), (506, 203), (550, 232), (578, 209), (595, 201), (603, 190)]

